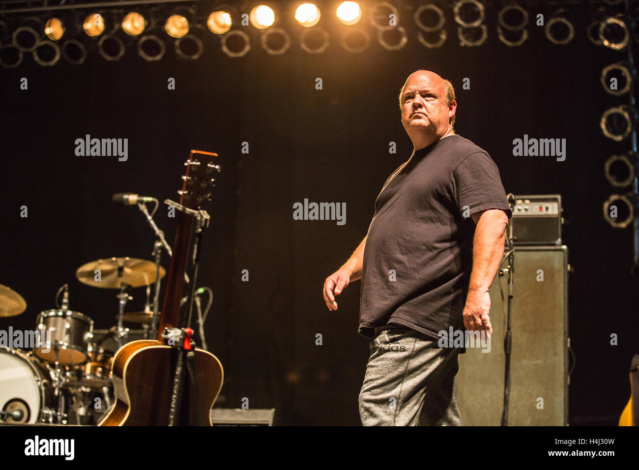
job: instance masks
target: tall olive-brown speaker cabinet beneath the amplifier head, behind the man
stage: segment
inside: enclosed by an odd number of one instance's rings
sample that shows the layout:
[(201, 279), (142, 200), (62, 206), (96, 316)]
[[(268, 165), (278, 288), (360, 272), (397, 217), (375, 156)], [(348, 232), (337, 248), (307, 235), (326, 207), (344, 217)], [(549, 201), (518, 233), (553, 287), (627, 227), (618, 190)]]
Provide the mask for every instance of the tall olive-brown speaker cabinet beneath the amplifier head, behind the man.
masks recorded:
[[(509, 426), (568, 425), (567, 255), (566, 246), (515, 247)], [(506, 259), (500, 269), (507, 266)], [(495, 276), (489, 292), (490, 351), (466, 347), (459, 355), (459, 411), (467, 426), (499, 426), (504, 408), (508, 274)]]

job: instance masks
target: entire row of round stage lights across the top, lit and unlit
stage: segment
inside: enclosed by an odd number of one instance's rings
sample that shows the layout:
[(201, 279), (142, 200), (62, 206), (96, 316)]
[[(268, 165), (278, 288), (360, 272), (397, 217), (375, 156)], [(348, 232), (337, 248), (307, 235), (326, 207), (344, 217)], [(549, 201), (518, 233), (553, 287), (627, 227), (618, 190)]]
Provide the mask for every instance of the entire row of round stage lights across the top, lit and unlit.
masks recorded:
[[(484, 24), (484, 4), (478, 0), (458, 0), (454, 3), (453, 15), (458, 25), (460, 45), (479, 46), (488, 37)], [(164, 40), (154, 31), (163, 26), (167, 35), (176, 39), (175, 52), (185, 59), (197, 59), (204, 51), (204, 27), (190, 21), (188, 8), (178, 8), (162, 24), (153, 17), (145, 17), (138, 12), (130, 12), (121, 20), (121, 31), (128, 36), (140, 36), (137, 42), (138, 54), (147, 61), (160, 60), (166, 47)], [(386, 1), (371, 5), (371, 24), (378, 31), (378, 42), (385, 49), (395, 51), (406, 45), (406, 31), (399, 24), (389, 24), (391, 14), (399, 19), (397, 8)], [(109, 15), (110, 13), (103, 13)], [(47, 66), (58, 62), (60, 56), (72, 64), (83, 63), (86, 59), (86, 47), (77, 38), (77, 32), (86, 33), (91, 37), (101, 36), (97, 49), (100, 55), (108, 61), (120, 59), (125, 53), (125, 35), (105, 32), (105, 18), (103, 14), (93, 12), (80, 21), (76, 27), (73, 21), (53, 17), (46, 24), (38, 26), (37, 18), (27, 18), (13, 33), (13, 43), (0, 47), (0, 64), (3, 67), (17, 67), (22, 61), (23, 52), (33, 52), (36, 63)], [(111, 14), (112, 15), (112, 14)], [(344, 1), (335, 10), (335, 16), (345, 25), (357, 24), (362, 18), (362, 8), (355, 1)], [(295, 10), (296, 21), (305, 27), (300, 35), (300, 47), (309, 54), (318, 54), (328, 47), (328, 33), (316, 26), (321, 18), (318, 6), (314, 3), (299, 4)], [(545, 33), (548, 40), (556, 44), (566, 44), (574, 37), (574, 27), (570, 21), (570, 14), (566, 10), (557, 10), (548, 20)], [(498, 36), (506, 45), (511, 47), (521, 45), (528, 37), (528, 12), (517, 3), (509, 3), (498, 11)], [(116, 23), (116, 19), (109, 17), (109, 22)], [(415, 24), (419, 31), (417, 38), (428, 48), (442, 47), (446, 40), (445, 14), (443, 10), (432, 3), (420, 5), (414, 13)], [(284, 29), (272, 27), (275, 23), (275, 12), (270, 6), (261, 4), (250, 10), (249, 21), (256, 29), (268, 29), (261, 35), (261, 45), (269, 54), (284, 54), (290, 46), (290, 38)], [(65, 36), (65, 23), (72, 27), (75, 37), (66, 40), (62, 47), (59, 40)], [(218, 10), (210, 13), (206, 21), (208, 29), (221, 36), (222, 51), (229, 57), (242, 57), (250, 50), (249, 36), (242, 29), (231, 29), (233, 21), (231, 13)], [(43, 40), (42, 31), (50, 41)], [(146, 31), (146, 33), (145, 33)], [(119, 32), (119, 31), (118, 31)], [(144, 35), (142, 35), (144, 33)], [(26, 39), (24, 37), (26, 36)], [(71, 36), (74, 36), (73, 34)], [(122, 37), (121, 37), (122, 36)], [(23, 39), (20, 39), (23, 38)], [(124, 39), (124, 40), (123, 40)], [(362, 52), (369, 45), (369, 36), (364, 29), (349, 28), (342, 38), (344, 49), (349, 52)], [(12, 57), (13, 55), (13, 57)]]

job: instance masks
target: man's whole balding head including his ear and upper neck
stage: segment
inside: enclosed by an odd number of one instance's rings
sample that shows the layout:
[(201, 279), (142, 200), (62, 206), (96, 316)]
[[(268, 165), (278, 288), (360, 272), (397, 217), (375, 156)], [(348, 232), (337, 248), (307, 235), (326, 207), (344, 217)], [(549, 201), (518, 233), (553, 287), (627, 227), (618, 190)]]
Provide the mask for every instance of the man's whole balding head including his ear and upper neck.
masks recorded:
[(429, 70), (410, 74), (399, 94), (401, 120), (415, 150), (454, 134), (457, 102), (452, 84)]

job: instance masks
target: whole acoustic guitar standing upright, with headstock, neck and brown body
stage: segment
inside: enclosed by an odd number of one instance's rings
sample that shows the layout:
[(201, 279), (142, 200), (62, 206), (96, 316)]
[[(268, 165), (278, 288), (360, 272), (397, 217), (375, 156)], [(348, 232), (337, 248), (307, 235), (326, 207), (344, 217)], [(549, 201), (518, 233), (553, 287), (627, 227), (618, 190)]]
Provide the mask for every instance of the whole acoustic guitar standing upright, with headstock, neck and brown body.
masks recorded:
[[(175, 209), (177, 228), (158, 337), (132, 341), (116, 352), (112, 366), (116, 402), (98, 426), (212, 426), (211, 409), (224, 380), (222, 364), (210, 352), (196, 347), (189, 350), (187, 368), (185, 351), (179, 347), (186, 345), (184, 338), (167, 341), (163, 333), (188, 326), (184, 324), (185, 315), (180, 315), (185, 272), (192, 257), (194, 228), (199, 226), (195, 214), (201, 212), (196, 210), (210, 198), (213, 176), (219, 171), (214, 157), (216, 153), (191, 150), (185, 162), (187, 171), (179, 191), (181, 208)], [(187, 307), (189, 301), (185, 302)]]

